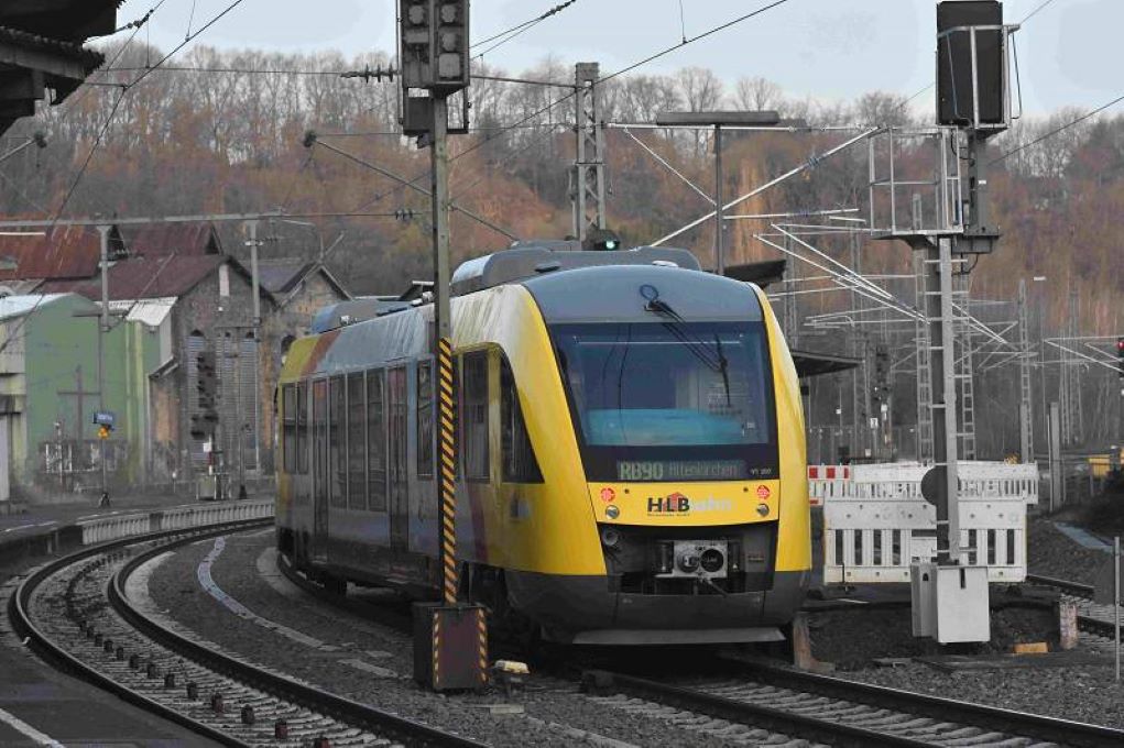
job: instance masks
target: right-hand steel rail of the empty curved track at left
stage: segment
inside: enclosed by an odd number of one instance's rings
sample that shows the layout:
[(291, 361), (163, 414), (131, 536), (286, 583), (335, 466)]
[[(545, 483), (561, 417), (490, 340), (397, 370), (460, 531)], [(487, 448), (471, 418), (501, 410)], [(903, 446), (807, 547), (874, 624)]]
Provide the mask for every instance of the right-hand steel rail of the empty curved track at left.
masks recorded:
[(308, 709), (366, 727), (380, 735), (393, 737), (409, 746), (484, 748), (484, 744), (471, 738), (446, 732), (439, 728), (321, 691), (245, 660), (233, 659), (147, 618), (133, 605), (125, 594), (125, 583), (137, 568), (165, 550), (167, 550), (167, 546), (153, 548), (130, 559), (114, 575), (108, 587), (109, 601), (114, 610), (148, 638), (237, 681), (252, 684), (262, 691)]

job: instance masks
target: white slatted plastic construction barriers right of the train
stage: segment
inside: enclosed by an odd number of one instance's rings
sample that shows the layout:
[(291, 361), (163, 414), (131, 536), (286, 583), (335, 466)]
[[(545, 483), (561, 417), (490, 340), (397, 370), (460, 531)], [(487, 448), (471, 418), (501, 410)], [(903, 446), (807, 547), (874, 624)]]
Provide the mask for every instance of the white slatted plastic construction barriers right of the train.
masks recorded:
[[(1037, 503), (1035, 465), (961, 462), (961, 563), (986, 566), (990, 582), (1026, 577), (1026, 505)], [(936, 556), (936, 508), (922, 496), (930, 469), (917, 463), (852, 465), (828, 477), (808, 468), (809, 495), (824, 508), (826, 584), (908, 582), (909, 564)]]

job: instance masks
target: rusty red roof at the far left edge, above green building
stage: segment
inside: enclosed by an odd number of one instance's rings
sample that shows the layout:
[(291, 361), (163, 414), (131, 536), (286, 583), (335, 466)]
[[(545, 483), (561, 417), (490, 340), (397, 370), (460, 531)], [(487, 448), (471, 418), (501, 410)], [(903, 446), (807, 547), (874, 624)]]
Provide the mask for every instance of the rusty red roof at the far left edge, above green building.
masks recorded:
[[(114, 241), (112, 232), (110, 241)], [(100, 254), (98, 231), (90, 228), (71, 226), (55, 229), (49, 236), (0, 235), (0, 257), (11, 258), (17, 263), (15, 270), (0, 268), (0, 282), (92, 277), (98, 273)]]

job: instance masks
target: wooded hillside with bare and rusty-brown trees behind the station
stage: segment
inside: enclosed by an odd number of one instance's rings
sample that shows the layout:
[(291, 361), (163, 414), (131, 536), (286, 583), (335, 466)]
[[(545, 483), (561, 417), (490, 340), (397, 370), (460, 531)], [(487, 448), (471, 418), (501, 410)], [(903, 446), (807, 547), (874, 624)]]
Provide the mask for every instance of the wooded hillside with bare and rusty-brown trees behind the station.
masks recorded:
[[(341, 77), (344, 71), (386, 69), (387, 55), (346, 60), (337, 54), (287, 55), (197, 47), (148, 74), (123, 93), (121, 83), (161, 58), (134, 45), (106, 49), (115, 70), (62, 106), (19, 122), (9, 137), (46, 133), (45, 149), (28, 148), (0, 165), (0, 213), (6, 216), (161, 216), (235, 213), (283, 209), (292, 220), (269, 226), (266, 252), (323, 256), (356, 294), (395, 293), (429, 275), (428, 204), (363, 162), (427, 182), (428, 154), (397, 131), (397, 84)], [(120, 53), (120, 54), (118, 54)], [(207, 71), (207, 72), (202, 72)], [(471, 90), (471, 131), (452, 145), (453, 200), (519, 237), (561, 237), (570, 230), (569, 174), (573, 159), (572, 67), (547, 57), (518, 77), (481, 66)], [(932, 97), (932, 92), (924, 94)], [(667, 110), (777, 109), (816, 126), (853, 126), (815, 133), (753, 133), (729, 137), (725, 193), (737, 195), (815, 161), (832, 145), (870, 125), (927, 125), (900, 94), (871, 92), (851, 102), (794, 99), (761, 77), (722, 81), (687, 67), (670, 75), (631, 74), (604, 88), (605, 115), (614, 122), (645, 122)], [(551, 104), (554, 106), (551, 106)], [(1068, 317), (1069, 293), (1080, 298), (1079, 329), (1087, 335), (1124, 330), (1124, 116), (1090, 118), (1045, 137), (1081, 112), (1058, 110), (1025, 118), (989, 144), (999, 157), (990, 179), (996, 219), (1005, 231), (999, 250), (981, 257), (972, 295), (1010, 301), (1018, 281), (1045, 276), (1046, 336)], [(109, 122), (108, 127), (106, 126)], [(508, 127), (517, 124), (516, 127)], [(312, 130), (320, 143), (308, 148)], [(708, 212), (708, 202), (664, 168), (635, 139), (704, 191), (713, 184), (705, 133), (659, 129), (607, 130), (609, 218), (625, 244), (654, 240)], [(93, 156), (88, 159), (93, 148)], [(81, 174), (81, 179), (75, 179)], [(856, 146), (826, 158), (805, 174), (738, 207), (745, 213), (860, 208), (865, 215), (867, 149)], [(414, 211), (401, 218), (401, 211)], [(396, 216), (397, 213), (397, 216)], [(300, 217), (312, 215), (315, 217)], [(409, 213), (407, 213), (409, 216)], [(809, 219), (810, 220), (810, 219)], [(501, 248), (508, 239), (454, 213), (454, 259)], [(223, 229), (227, 248), (242, 252), (235, 226)], [(732, 224), (729, 263), (778, 256), (754, 238), (768, 222)], [(713, 262), (708, 222), (676, 244)], [(816, 237), (817, 248), (849, 263), (846, 236)], [(864, 272), (912, 272), (899, 243), (863, 240)], [(805, 274), (814, 274), (805, 268)], [(912, 300), (912, 283), (894, 286)], [(847, 303), (845, 294), (801, 298), (800, 311), (816, 313)], [(997, 312), (1013, 319), (1009, 308)], [(1039, 310), (1034, 320), (1037, 322)], [(1036, 337), (1036, 336), (1035, 336)], [(816, 345), (843, 349), (844, 338)], [(1012, 367), (1000, 370), (1008, 377)], [(1007, 380), (1004, 380), (1007, 381)], [(1107, 375), (1106, 375), (1107, 381)], [(985, 402), (1009, 420), (1014, 387), (998, 386)], [(1118, 398), (1117, 398), (1118, 399)], [(909, 398), (903, 392), (903, 400)], [(1094, 402), (1089, 401), (1090, 412)], [(1120, 408), (1118, 403), (1114, 408)], [(908, 414), (904, 416), (908, 418)], [(1118, 420), (1118, 417), (1117, 419)], [(1105, 422), (1108, 435), (1120, 428)], [(1009, 439), (992, 451), (1009, 449)]]

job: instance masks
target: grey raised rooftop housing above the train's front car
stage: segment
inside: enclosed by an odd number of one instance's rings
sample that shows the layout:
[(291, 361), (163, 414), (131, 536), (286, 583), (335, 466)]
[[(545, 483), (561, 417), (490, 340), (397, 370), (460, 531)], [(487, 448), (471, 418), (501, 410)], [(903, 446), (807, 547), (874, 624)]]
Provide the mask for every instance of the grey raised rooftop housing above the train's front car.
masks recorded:
[(665, 265), (701, 270), (687, 249), (636, 247), (616, 252), (581, 249), (573, 240), (517, 241), (509, 249), (463, 263), (453, 273), (454, 297), (579, 267), (606, 265)]

